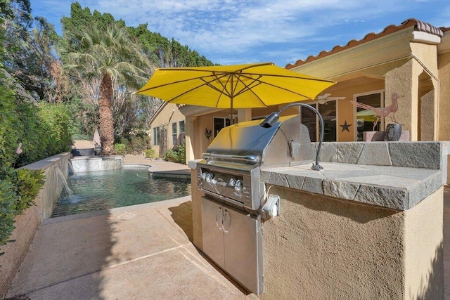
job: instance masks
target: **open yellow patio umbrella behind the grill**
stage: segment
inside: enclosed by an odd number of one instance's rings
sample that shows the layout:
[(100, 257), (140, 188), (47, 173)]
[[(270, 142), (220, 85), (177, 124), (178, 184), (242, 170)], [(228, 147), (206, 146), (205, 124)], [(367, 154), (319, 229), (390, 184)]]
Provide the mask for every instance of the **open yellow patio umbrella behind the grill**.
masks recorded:
[(267, 107), (312, 100), (335, 81), (296, 73), (274, 63), (155, 70), (137, 93), (169, 103), (217, 108)]

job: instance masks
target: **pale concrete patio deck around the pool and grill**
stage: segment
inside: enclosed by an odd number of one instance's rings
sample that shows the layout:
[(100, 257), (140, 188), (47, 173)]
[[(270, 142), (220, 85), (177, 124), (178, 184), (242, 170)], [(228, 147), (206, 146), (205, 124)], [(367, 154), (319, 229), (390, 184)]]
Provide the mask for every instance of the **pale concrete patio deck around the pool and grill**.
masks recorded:
[[(188, 167), (143, 157), (150, 171)], [(252, 299), (191, 243), (191, 197), (44, 221), (8, 297)], [(450, 188), (444, 190), (444, 278), (450, 282)], [(450, 300), (450, 284), (445, 287)]]

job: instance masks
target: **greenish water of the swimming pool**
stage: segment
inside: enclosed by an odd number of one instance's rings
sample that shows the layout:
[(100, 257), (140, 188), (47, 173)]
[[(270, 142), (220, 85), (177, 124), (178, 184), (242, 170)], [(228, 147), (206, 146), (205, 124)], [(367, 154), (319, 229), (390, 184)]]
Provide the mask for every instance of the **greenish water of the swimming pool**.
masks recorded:
[(81, 214), (191, 195), (191, 181), (153, 179), (147, 168), (71, 174), (52, 217)]

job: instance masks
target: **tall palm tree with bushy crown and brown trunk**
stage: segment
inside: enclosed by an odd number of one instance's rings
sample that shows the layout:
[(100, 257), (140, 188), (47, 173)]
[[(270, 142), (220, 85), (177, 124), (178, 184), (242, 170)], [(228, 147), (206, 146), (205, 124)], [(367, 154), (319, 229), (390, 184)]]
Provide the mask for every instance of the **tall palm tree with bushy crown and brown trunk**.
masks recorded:
[(113, 86), (138, 89), (148, 80), (145, 75), (152, 67), (139, 43), (129, 39), (125, 27), (108, 25), (106, 30), (99, 30), (94, 25), (76, 30), (66, 32), (76, 50), (66, 51), (70, 64), (65, 67), (77, 70), (82, 79), (100, 81), (98, 110), (102, 155), (111, 155), (114, 153)]

